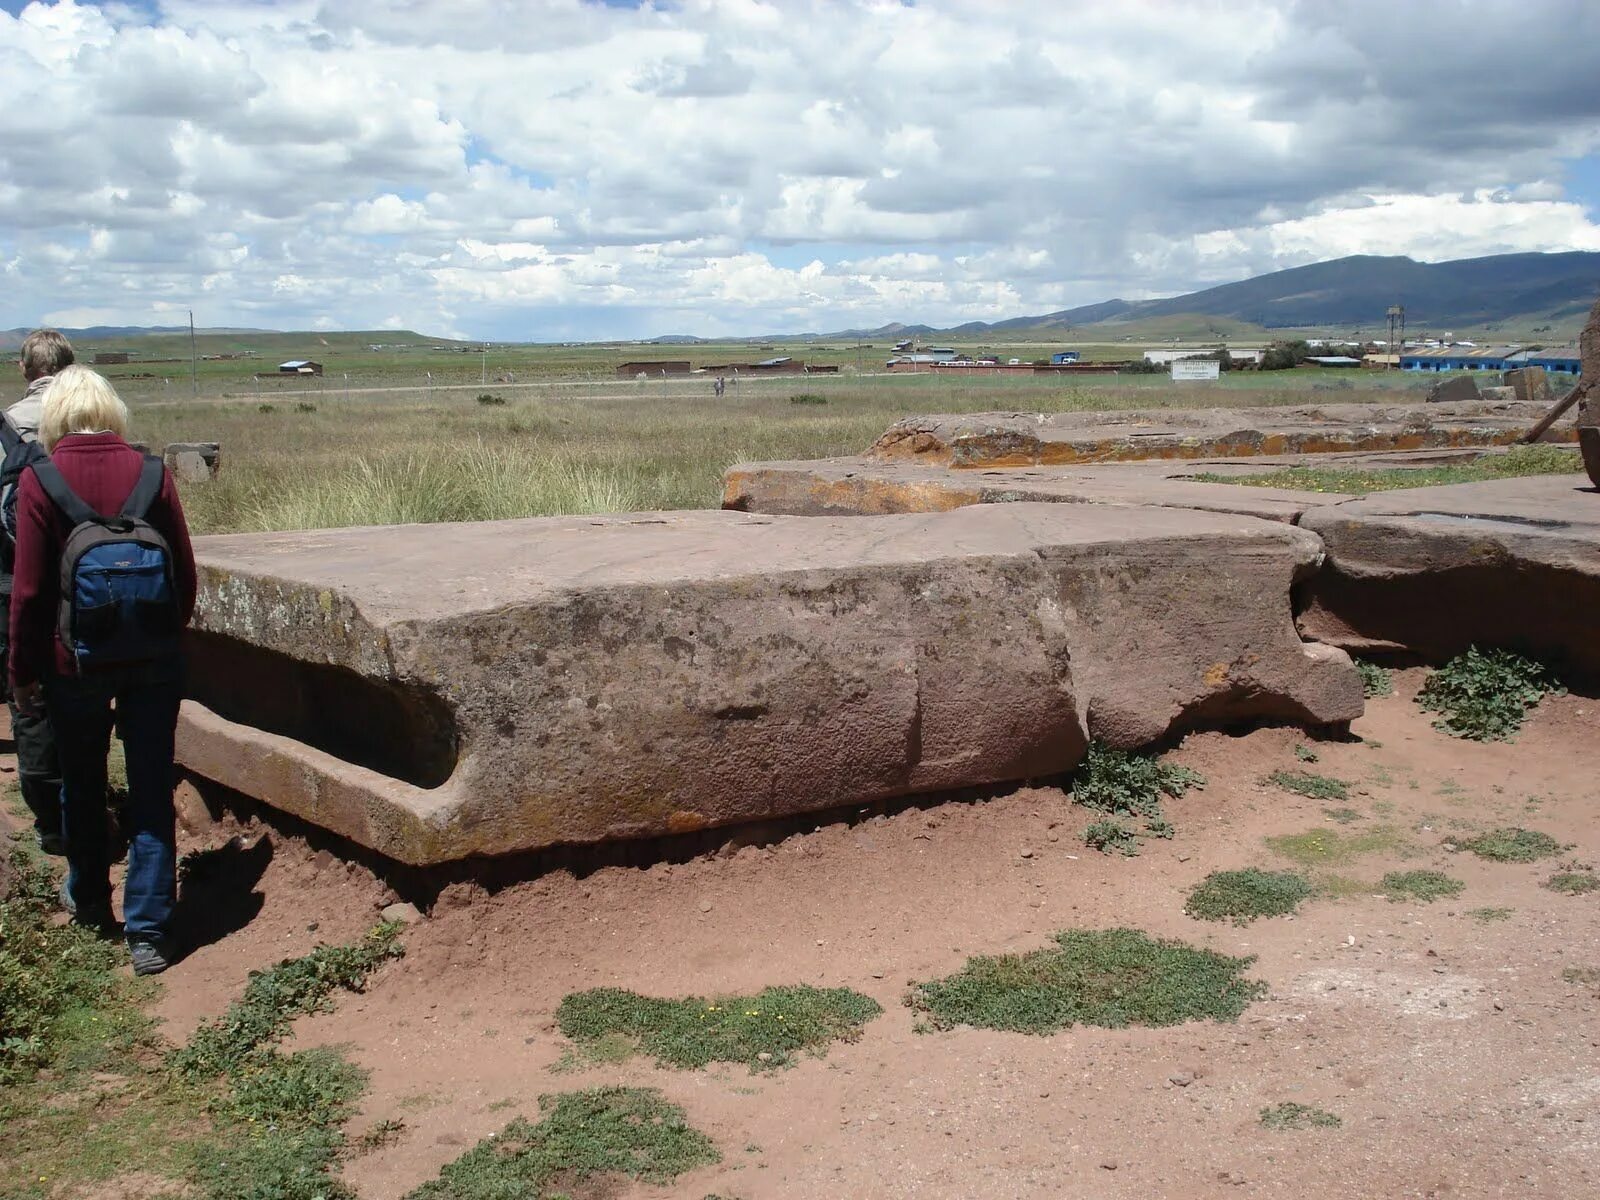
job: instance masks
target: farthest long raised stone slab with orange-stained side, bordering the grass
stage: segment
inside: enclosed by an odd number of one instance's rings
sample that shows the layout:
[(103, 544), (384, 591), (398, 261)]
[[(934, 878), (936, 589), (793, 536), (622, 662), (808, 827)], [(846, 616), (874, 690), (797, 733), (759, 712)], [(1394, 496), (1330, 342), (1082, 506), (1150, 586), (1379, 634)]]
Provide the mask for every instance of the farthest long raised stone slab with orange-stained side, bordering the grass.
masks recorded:
[[(866, 456), (979, 469), (1435, 450), (1506, 445), (1542, 414), (1541, 405), (1474, 402), (917, 416), (891, 426)], [(1546, 440), (1576, 435), (1558, 426)]]

